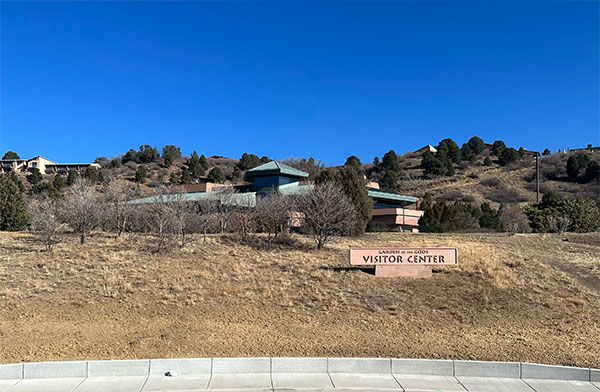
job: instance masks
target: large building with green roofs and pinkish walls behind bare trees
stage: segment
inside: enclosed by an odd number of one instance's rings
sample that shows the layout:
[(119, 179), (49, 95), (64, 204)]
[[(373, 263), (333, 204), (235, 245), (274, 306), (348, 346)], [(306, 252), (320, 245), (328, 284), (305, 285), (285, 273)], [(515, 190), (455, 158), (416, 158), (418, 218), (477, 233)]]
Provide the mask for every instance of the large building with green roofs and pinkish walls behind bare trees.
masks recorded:
[[(217, 197), (216, 190), (233, 187), (236, 193), (224, 196), (222, 202), (232, 205), (252, 208), (256, 206), (257, 197), (263, 197), (270, 192), (284, 195), (295, 195), (309, 191), (314, 185), (307, 182), (309, 174), (296, 168), (271, 161), (246, 172), (246, 183), (240, 185), (193, 184), (184, 185), (184, 200), (199, 201)], [(396, 192), (379, 189), (379, 184), (368, 183), (367, 192), (373, 200), (373, 215), (368, 224), (369, 231), (407, 231), (418, 232), (419, 199), (413, 196), (401, 195)], [(181, 200), (181, 195), (162, 195), (132, 200), (131, 203), (154, 203)], [(296, 226), (296, 225), (293, 225)]]

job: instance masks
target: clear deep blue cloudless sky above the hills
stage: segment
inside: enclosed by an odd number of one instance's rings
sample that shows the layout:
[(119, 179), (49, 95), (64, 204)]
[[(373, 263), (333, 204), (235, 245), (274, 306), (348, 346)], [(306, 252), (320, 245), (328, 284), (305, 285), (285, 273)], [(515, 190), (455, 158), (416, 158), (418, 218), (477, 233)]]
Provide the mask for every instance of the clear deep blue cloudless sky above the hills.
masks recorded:
[(0, 154), (600, 144), (594, 1), (0, 4)]

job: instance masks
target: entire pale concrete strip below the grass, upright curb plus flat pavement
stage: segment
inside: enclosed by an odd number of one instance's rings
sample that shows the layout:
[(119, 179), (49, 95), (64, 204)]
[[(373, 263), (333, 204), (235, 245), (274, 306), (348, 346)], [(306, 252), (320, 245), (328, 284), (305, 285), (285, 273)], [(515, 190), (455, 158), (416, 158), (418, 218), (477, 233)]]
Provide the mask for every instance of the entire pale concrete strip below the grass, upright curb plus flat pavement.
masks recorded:
[[(165, 376), (165, 374), (171, 376)], [(600, 392), (600, 370), (396, 358), (190, 358), (0, 365), (0, 392)]]

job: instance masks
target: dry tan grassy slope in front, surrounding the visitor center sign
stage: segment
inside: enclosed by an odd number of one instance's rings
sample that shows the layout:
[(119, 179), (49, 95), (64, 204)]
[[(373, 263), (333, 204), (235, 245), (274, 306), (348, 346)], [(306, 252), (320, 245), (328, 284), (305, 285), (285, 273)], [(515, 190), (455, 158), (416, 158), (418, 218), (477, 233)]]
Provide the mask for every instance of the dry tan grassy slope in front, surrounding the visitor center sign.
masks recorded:
[[(0, 363), (208, 356), (394, 356), (600, 367), (598, 234), (371, 233), (322, 251), (295, 235), (0, 233)], [(351, 246), (453, 246), (430, 280), (377, 279)]]

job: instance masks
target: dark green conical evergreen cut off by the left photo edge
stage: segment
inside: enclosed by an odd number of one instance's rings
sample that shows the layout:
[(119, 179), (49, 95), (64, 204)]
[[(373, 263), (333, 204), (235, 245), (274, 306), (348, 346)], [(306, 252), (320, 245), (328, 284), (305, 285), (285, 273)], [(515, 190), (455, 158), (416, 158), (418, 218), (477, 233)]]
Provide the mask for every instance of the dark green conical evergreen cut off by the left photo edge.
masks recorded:
[(24, 230), (29, 224), (25, 196), (15, 181), (0, 175), (0, 230)]

